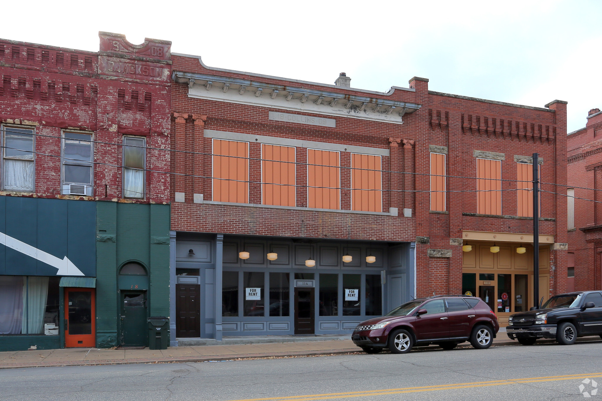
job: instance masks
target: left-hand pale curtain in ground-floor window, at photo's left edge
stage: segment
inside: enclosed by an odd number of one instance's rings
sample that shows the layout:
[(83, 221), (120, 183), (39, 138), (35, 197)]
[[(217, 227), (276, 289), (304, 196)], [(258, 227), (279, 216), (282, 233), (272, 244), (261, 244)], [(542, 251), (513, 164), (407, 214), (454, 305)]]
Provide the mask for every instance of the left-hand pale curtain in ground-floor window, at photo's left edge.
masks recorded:
[(0, 276), (0, 334), (21, 334), (23, 277)]

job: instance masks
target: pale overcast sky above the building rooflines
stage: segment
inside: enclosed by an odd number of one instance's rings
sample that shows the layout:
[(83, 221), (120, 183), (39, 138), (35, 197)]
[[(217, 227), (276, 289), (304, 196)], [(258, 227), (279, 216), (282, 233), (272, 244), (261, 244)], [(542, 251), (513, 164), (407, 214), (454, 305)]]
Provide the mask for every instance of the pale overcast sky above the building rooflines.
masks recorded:
[[(11, 7), (13, 8), (11, 10)], [(171, 40), (211, 67), (408, 87), (543, 107), (568, 101), (568, 132), (602, 108), (602, 1), (20, 1), (0, 37), (98, 51), (98, 31)], [(10, 16), (10, 17), (9, 17)]]

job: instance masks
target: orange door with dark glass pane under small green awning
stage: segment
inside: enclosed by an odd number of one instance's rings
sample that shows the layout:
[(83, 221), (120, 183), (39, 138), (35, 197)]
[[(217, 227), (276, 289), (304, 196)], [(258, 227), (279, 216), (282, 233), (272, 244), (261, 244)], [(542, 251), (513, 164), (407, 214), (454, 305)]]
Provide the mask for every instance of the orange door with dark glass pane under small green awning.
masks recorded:
[(96, 292), (93, 288), (65, 289), (66, 347), (96, 344)]

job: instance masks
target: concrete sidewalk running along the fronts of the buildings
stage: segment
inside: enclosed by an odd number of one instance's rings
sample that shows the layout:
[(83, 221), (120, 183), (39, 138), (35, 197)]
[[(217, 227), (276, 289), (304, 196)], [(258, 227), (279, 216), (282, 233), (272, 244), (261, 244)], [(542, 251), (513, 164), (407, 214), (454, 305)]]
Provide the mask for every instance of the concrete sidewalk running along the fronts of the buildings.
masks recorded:
[[(600, 341), (600, 336), (578, 338), (579, 342)], [(536, 344), (553, 343), (539, 340)], [(503, 333), (494, 346), (519, 345)], [(459, 344), (460, 348), (470, 343)], [(415, 350), (435, 350), (438, 346), (414, 347)], [(349, 354), (362, 352), (351, 340), (303, 341), (287, 343), (206, 345), (169, 347), (164, 350), (67, 348), (0, 352), (0, 369), (44, 366), (108, 365), (132, 363), (170, 363), (227, 361), (247, 358), (308, 357), (313, 355)]]

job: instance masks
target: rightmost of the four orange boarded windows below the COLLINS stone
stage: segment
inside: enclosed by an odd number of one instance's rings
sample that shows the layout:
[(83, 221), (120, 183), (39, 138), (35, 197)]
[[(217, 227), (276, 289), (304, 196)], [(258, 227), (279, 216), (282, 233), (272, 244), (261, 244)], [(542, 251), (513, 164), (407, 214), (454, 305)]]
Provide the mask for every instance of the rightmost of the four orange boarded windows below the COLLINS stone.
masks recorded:
[(382, 212), (380, 156), (352, 153), (351, 168), (352, 210)]

